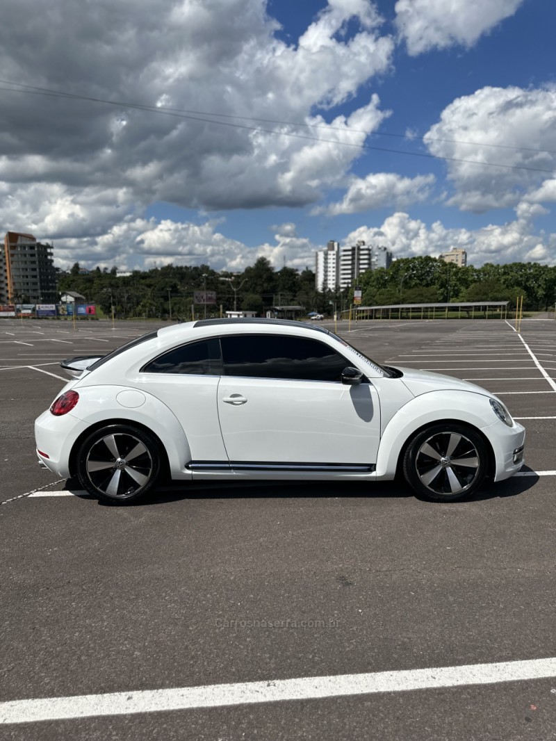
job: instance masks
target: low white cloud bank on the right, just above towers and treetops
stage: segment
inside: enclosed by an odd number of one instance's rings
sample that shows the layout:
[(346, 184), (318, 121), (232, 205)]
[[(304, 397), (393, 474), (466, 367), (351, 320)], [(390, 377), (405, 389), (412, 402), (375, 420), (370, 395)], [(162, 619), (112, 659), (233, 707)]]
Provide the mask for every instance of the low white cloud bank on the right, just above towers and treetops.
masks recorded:
[(408, 213), (397, 212), (380, 227), (362, 226), (345, 238), (345, 245), (363, 239), (368, 245), (383, 245), (395, 258), (430, 255), (437, 257), (452, 248), (467, 251), (468, 262), (477, 267), (485, 262), (537, 260), (556, 265), (556, 233), (538, 235), (528, 219), (476, 230), (445, 227), (434, 222), (428, 227)]

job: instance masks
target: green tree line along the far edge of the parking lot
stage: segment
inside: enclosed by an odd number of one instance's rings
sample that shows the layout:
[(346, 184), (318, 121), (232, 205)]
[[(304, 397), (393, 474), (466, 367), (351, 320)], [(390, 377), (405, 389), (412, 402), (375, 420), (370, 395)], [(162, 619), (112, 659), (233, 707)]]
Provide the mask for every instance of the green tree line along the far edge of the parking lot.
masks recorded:
[[(537, 262), (459, 268), (430, 256), (411, 257), (395, 260), (388, 269), (367, 270), (358, 282), (364, 306), (462, 301), (515, 305), (517, 296), (523, 296), (523, 308), (546, 310), (556, 301), (556, 267)], [(216, 293), (216, 305), (207, 306), (207, 316), (218, 316), (220, 306), (224, 311), (238, 308), (262, 314), (272, 306), (299, 305), (331, 314), (348, 308), (353, 289), (317, 291), (312, 270), (274, 270), (264, 257), (242, 273), (217, 273), (208, 265), (165, 265), (119, 276), (116, 268), (82, 272), (78, 262), (59, 272), (61, 293), (77, 291), (106, 314), (113, 306), (121, 318), (190, 319), (193, 293), (202, 290)], [(195, 310), (197, 315), (204, 313), (204, 306)]]

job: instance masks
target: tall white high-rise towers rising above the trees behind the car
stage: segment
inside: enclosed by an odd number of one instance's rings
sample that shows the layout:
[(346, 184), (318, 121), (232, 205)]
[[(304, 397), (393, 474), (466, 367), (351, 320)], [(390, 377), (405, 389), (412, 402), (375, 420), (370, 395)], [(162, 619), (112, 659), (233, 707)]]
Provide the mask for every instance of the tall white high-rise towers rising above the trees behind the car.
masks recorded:
[(317, 290), (338, 290), (355, 285), (365, 270), (389, 268), (392, 255), (386, 247), (368, 246), (357, 242), (340, 250), (331, 240), (316, 254), (315, 285)]

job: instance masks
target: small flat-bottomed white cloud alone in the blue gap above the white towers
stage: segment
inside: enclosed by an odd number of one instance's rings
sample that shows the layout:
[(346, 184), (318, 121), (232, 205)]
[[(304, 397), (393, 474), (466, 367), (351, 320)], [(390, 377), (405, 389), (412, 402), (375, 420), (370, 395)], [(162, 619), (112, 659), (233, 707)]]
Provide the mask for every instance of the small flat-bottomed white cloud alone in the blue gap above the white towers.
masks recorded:
[(423, 202), (430, 196), (434, 175), (406, 178), (395, 173), (371, 173), (366, 178), (351, 181), (345, 196), (338, 203), (314, 210), (314, 213), (361, 213), (385, 206), (406, 208)]

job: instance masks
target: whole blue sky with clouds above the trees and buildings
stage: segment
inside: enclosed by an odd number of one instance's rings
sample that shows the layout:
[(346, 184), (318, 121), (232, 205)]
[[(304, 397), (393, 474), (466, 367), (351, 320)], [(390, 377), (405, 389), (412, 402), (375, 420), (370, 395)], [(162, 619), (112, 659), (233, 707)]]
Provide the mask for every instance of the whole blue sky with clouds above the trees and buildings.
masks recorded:
[(0, 231), (60, 268), (556, 265), (555, 28), (554, 0), (3, 0)]

